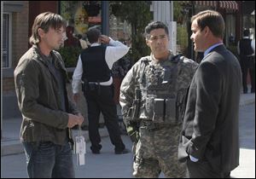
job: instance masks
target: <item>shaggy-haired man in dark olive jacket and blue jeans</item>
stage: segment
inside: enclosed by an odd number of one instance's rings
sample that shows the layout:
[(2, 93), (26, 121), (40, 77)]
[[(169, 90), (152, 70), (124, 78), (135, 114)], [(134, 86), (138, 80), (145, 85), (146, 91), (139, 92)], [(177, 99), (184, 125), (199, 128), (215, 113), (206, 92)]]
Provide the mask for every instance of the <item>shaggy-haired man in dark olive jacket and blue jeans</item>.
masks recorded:
[(59, 14), (38, 14), (32, 48), (15, 68), (15, 90), (23, 121), (20, 140), (29, 177), (74, 177), (70, 128), (84, 118), (67, 98), (67, 72), (59, 49), (66, 22)]

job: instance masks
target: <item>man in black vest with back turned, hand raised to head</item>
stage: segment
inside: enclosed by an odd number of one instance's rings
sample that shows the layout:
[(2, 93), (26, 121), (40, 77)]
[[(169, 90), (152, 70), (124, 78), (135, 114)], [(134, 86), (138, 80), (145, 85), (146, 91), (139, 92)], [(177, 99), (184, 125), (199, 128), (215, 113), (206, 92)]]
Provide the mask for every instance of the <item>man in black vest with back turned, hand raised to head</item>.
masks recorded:
[[(113, 78), (111, 68), (129, 50), (119, 41), (113, 41), (108, 36), (101, 35), (96, 28), (87, 32), (91, 46), (79, 55), (79, 61), (73, 72), (73, 98), (79, 99), (79, 83), (84, 82), (84, 96), (88, 107), (89, 138), (92, 153), (100, 153), (102, 148), (98, 124), (102, 112), (108, 129), (110, 140), (115, 146), (116, 154), (129, 153), (125, 148), (118, 125), (116, 105), (113, 101)], [(101, 45), (101, 43), (109, 46)]]

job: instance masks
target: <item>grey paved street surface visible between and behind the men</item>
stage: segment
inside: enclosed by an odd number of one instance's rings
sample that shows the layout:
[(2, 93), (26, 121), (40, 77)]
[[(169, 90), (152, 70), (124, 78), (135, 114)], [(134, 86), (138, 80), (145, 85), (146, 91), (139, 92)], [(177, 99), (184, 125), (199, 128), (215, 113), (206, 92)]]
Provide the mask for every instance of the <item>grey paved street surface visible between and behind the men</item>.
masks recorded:
[[(128, 136), (122, 136), (126, 147), (131, 148)], [(255, 178), (255, 104), (240, 107), (240, 165), (231, 172), (236, 178)], [(108, 137), (102, 138), (102, 153), (90, 153), (87, 143), (85, 165), (76, 168), (76, 177), (127, 178), (131, 177), (131, 153), (115, 155)], [(73, 158), (76, 164), (75, 156)], [(25, 154), (1, 156), (1, 177), (27, 177)], [(164, 177), (162, 174), (160, 177)]]

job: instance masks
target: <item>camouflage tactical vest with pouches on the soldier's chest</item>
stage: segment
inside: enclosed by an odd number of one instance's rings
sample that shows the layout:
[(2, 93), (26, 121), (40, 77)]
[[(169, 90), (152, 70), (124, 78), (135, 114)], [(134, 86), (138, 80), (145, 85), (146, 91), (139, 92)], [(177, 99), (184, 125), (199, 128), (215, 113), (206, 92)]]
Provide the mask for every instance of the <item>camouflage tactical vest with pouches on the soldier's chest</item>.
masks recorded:
[(181, 56), (154, 63), (143, 60), (139, 78), (139, 117), (159, 124), (177, 124), (177, 62)]

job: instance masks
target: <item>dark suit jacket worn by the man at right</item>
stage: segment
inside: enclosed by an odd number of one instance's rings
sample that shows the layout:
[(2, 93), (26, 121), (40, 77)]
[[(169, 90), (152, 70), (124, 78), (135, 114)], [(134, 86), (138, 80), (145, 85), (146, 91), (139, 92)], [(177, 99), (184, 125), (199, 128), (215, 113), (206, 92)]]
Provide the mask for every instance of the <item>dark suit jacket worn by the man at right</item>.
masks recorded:
[(239, 165), (240, 90), (239, 62), (219, 45), (201, 61), (189, 87), (178, 148), (181, 162), (190, 154), (216, 171)]

